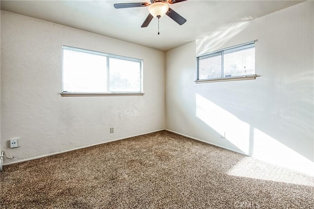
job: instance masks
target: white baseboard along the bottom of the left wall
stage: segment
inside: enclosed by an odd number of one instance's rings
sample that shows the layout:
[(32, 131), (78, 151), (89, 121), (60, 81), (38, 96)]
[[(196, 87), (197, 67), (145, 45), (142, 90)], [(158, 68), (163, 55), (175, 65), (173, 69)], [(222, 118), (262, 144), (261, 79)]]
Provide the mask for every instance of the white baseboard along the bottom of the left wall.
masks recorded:
[[(157, 130), (157, 131), (164, 131), (164, 130), (165, 129), (160, 129), (160, 130)], [(51, 153), (51, 154), (37, 156), (37, 157), (30, 157), (30, 158), (21, 159), (21, 160), (17, 160), (17, 161), (13, 161), (13, 162), (7, 162), (7, 163), (3, 163), (3, 165), (10, 165), (10, 164), (19, 163), (19, 162), (25, 162), (25, 161), (28, 161), (28, 160), (38, 159), (38, 158), (42, 158), (42, 157), (54, 156), (54, 155), (58, 155), (58, 154), (62, 154), (62, 153), (67, 153), (67, 152), (71, 152), (71, 151), (75, 151), (75, 150), (80, 150), (80, 149), (84, 149), (84, 148), (88, 148), (88, 147), (93, 147), (93, 146), (100, 145), (100, 144), (106, 144), (106, 143), (113, 142), (113, 141), (119, 141), (119, 140), (131, 138), (131, 137), (135, 137), (135, 136), (141, 136), (141, 135), (145, 135), (145, 134), (149, 134), (149, 133), (154, 133), (154, 132), (157, 132), (157, 131), (150, 131), (150, 132), (141, 133), (141, 134), (138, 134), (138, 135), (132, 135), (132, 136), (124, 137), (124, 138), (113, 139), (113, 140), (110, 140), (110, 141), (105, 141), (105, 142), (101, 142), (101, 143), (97, 143), (97, 144), (82, 146), (82, 147), (78, 147), (78, 148), (74, 148), (74, 149), (70, 149), (70, 150), (65, 150), (65, 151), (61, 151), (61, 152)]]

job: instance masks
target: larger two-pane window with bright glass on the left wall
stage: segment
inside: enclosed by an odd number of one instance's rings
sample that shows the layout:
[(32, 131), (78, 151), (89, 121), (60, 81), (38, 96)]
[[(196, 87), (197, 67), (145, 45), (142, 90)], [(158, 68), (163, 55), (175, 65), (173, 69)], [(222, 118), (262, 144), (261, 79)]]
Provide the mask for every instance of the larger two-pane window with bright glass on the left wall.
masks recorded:
[(62, 95), (143, 94), (143, 60), (62, 47)]

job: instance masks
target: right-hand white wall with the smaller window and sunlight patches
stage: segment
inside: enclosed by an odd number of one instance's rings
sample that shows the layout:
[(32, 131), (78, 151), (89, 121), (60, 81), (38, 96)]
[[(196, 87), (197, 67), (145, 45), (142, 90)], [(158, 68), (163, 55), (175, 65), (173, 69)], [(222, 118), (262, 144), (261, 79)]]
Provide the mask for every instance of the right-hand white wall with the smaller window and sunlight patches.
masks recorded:
[[(195, 84), (200, 43), (256, 39), (256, 80)], [(166, 52), (166, 129), (314, 175), (314, 1)]]

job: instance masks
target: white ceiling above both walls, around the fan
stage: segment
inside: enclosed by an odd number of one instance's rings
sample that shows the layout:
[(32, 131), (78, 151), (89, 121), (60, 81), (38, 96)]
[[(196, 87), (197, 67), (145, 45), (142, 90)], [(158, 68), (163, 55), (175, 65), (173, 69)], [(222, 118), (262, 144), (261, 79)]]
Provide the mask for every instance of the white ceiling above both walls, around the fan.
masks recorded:
[(115, 9), (114, 3), (150, 2), (150, 0), (1, 0), (6, 10), (161, 51), (181, 46), (213, 32), (249, 21), (300, 3), (300, 0), (187, 0), (169, 4), (187, 22), (178, 25), (168, 16), (145, 28), (140, 26), (148, 7)]

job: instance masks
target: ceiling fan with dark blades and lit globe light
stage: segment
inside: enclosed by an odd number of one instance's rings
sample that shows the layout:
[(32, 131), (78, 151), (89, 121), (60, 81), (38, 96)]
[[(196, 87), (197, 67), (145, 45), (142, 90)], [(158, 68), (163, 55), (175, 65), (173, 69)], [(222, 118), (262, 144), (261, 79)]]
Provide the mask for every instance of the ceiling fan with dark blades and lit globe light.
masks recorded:
[[(159, 18), (164, 15), (169, 16), (172, 20), (174, 20), (179, 25), (183, 25), (186, 20), (175, 12), (173, 9), (169, 8), (168, 4), (179, 3), (185, 0), (151, 0), (151, 4), (147, 2), (138, 2), (138, 3), (115, 3), (113, 4), (114, 8), (131, 8), (131, 7), (144, 7), (148, 6), (149, 14), (145, 19), (144, 23), (141, 27), (147, 27), (152, 19), (156, 17), (158, 19), (158, 29), (159, 29)], [(159, 31), (158, 31), (159, 34)]]

